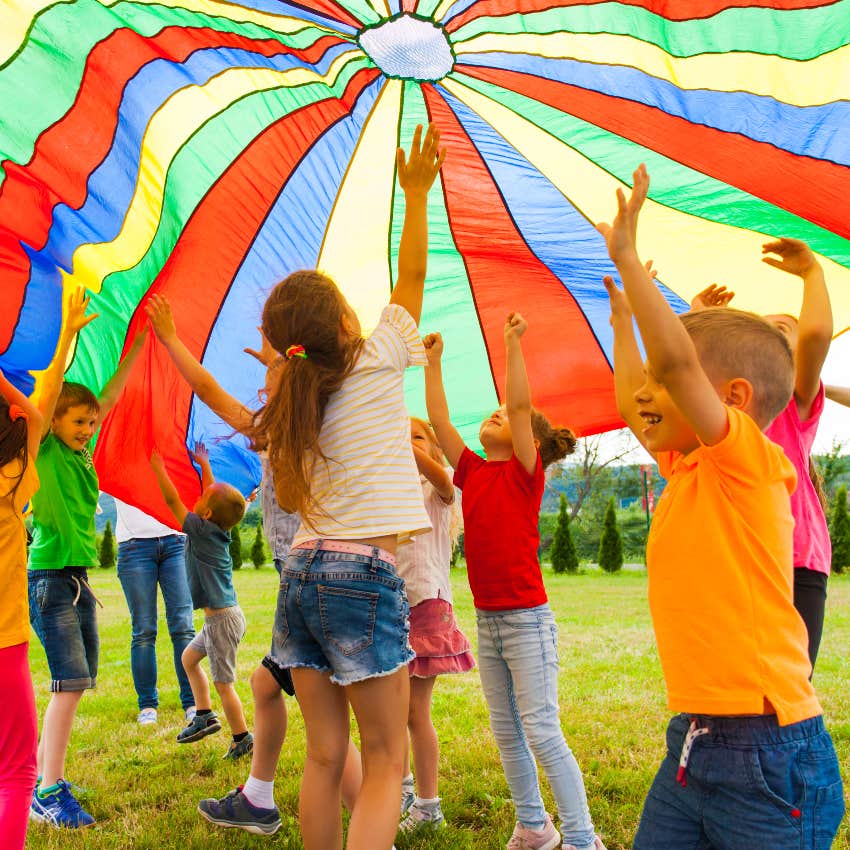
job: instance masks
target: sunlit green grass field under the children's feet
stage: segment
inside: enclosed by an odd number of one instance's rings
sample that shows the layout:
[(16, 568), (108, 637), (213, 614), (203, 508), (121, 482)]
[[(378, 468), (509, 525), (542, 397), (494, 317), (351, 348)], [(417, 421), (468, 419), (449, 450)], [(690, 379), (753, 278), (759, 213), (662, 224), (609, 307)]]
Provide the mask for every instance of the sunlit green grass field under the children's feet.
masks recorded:
[[(304, 734), (294, 700), (288, 700), (290, 732), (276, 785), (283, 828), (273, 838), (258, 838), (209, 826), (195, 810), (197, 801), (219, 796), (243, 782), (248, 762), (231, 765), (221, 760), (228, 740), (224, 731), (194, 745), (174, 742), (182, 712), (162, 619), (159, 724), (139, 727), (135, 723), (130, 622), (124, 597), (114, 572), (93, 572), (91, 580), (106, 606), (100, 615), (100, 671), (97, 691), (80, 706), (68, 778), (87, 789), (84, 802), (98, 824), (80, 833), (33, 826), (27, 846), (86, 850), (301, 847), (296, 807)], [(609, 850), (622, 850), (631, 846), (644, 795), (663, 754), (663, 730), (669, 716), (649, 621), (646, 577), (642, 571), (615, 576), (598, 572), (555, 576), (547, 571), (546, 584), (560, 627), (562, 726), (584, 771), (596, 827)], [(269, 644), (277, 575), (270, 567), (242, 570), (236, 574), (236, 587), (249, 624), (240, 649), (238, 687), (250, 725), (248, 677)], [(454, 587), (458, 619), (474, 642), (474, 614), (463, 572), (455, 573)], [(830, 583), (816, 684), (845, 783), (850, 782), (848, 649), (850, 576), (839, 576)], [(48, 675), (35, 639), (31, 658), (41, 715)], [(433, 837), (400, 838), (399, 850), (504, 847), (513, 829), (514, 811), (490, 737), (477, 674), (449, 676), (438, 683), (435, 718), (442, 744), (440, 792), (449, 827)], [(554, 810), (548, 792), (546, 799)], [(846, 819), (834, 847), (850, 850)]]

